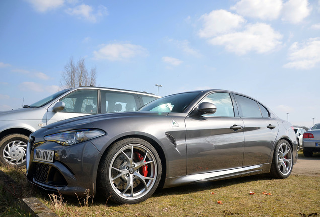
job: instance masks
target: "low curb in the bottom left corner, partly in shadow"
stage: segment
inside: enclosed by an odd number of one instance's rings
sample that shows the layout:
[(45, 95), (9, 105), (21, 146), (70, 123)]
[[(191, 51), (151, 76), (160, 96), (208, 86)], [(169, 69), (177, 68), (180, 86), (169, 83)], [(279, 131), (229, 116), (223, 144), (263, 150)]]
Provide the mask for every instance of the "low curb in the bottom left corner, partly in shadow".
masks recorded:
[(11, 204), (17, 204), (23, 211), (33, 217), (58, 217), (36, 197), (22, 198), (22, 187), (10, 176), (0, 170), (0, 185)]

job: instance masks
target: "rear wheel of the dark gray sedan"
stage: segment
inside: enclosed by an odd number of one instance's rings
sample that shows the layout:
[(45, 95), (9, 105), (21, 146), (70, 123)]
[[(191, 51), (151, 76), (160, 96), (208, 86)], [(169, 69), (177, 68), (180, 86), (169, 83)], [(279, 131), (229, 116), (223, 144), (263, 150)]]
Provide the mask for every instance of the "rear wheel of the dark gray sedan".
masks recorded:
[(278, 179), (287, 178), (292, 172), (292, 167), (292, 147), (286, 140), (279, 140), (273, 153), (270, 175)]

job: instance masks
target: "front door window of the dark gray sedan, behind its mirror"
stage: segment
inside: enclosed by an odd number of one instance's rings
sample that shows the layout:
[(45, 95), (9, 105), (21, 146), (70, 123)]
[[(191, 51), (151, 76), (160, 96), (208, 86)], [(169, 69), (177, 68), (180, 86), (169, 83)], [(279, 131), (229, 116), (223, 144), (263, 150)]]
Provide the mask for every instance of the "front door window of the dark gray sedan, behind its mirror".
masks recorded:
[(229, 93), (212, 93), (202, 102), (210, 102), (217, 107), (214, 114), (204, 116), (234, 117), (233, 104)]

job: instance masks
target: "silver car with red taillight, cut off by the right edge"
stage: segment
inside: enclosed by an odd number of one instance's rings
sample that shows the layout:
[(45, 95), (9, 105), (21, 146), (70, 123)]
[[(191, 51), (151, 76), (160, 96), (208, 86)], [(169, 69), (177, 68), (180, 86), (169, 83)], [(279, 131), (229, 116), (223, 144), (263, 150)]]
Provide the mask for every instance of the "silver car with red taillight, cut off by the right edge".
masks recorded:
[(302, 146), (305, 157), (312, 157), (314, 152), (320, 152), (320, 123), (304, 132)]

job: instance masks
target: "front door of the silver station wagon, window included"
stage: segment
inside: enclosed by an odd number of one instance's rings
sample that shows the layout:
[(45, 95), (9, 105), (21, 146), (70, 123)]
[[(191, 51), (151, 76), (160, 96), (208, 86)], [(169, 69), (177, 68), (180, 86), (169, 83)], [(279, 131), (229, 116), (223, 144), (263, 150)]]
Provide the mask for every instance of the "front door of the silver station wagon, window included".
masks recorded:
[(53, 112), (53, 103), (47, 112), (47, 124), (98, 112), (98, 90), (77, 90), (59, 99), (64, 102), (65, 107), (62, 111)]

